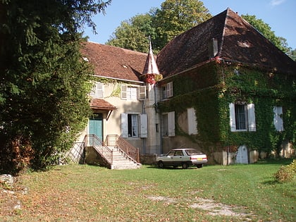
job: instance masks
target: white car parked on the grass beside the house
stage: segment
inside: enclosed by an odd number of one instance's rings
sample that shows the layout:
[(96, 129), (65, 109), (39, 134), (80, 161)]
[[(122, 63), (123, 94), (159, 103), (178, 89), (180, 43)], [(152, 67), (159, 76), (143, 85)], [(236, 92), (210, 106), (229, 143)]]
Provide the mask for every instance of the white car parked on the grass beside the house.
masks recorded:
[(159, 168), (164, 166), (182, 166), (183, 169), (187, 169), (188, 166), (197, 166), (202, 168), (208, 161), (206, 154), (199, 152), (197, 149), (171, 149), (165, 155), (156, 156), (156, 163)]

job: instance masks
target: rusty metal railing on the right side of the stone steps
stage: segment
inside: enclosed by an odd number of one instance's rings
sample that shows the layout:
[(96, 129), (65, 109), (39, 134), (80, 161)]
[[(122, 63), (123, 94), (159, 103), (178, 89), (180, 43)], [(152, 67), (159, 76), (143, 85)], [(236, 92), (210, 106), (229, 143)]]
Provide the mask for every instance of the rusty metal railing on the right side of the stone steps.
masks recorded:
[(132, 145), (126, 142), (122, 137), (118, 135), (107, 135), (107, 145), (118, 147), (122, 152), (130, 156), (130, 158), (137, 163), (140, 163), (139, 149), (132, 147)]

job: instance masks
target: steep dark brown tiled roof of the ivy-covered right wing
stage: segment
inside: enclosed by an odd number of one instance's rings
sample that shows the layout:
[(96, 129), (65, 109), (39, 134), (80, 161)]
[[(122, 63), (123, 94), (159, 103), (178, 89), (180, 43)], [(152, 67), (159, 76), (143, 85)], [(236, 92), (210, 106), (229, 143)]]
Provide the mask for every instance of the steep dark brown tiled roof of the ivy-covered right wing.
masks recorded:
[(296, 74), (295, 61), (230, 8), (171, 40), (157, 56), (159, 71), (166, 77), (209, 61), (213, 39), (217, 58)]

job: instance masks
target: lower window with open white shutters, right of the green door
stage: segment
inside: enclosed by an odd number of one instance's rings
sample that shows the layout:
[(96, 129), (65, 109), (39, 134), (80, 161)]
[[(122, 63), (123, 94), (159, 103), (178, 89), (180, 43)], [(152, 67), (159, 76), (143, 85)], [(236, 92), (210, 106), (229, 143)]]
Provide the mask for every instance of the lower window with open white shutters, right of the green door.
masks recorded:
[(121, 137), (139, 137), (139, 132), (147, 137), (147, 114), (121, 113)]

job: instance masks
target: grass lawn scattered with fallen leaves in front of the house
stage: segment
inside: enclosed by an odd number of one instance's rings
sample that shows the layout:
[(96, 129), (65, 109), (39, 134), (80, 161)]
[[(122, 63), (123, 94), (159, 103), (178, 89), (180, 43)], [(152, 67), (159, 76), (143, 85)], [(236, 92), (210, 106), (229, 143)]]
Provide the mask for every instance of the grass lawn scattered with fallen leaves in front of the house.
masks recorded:
[(56, 166), (21, 175), (14, 187), (21, 209), (2, 210), (0, 221), (296, 221), (296, 181), (273, 178), (290, 162), (187, 170)]

